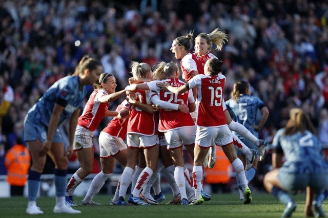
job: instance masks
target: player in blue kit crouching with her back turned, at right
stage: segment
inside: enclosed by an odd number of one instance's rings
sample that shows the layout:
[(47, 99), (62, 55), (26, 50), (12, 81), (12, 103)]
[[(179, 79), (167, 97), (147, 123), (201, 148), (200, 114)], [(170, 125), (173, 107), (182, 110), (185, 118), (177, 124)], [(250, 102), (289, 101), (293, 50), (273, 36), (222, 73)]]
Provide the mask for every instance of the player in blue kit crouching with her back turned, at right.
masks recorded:
[[(321, 154), (321, 144), (309, 116), (300, 108), (290, 111), (285, 128), (279, 129), (273, 140), (273, 170), (264, 176), (263, 184), (282, 204), (281, 217), (291, 217), (297, 204), (288, 194), (306, 188), (306, 216), (313, 216), (313, 195), (319, 196), (328, 185), (328, 164)], [(282, 164), (282, 157), (286, 161)], [(310, 199), (310, 200), (309, 200)], [(317, 199), (316, 199), (317, 200)], [(320, 201), (313, 202), (316, 217), (325, 217)]]

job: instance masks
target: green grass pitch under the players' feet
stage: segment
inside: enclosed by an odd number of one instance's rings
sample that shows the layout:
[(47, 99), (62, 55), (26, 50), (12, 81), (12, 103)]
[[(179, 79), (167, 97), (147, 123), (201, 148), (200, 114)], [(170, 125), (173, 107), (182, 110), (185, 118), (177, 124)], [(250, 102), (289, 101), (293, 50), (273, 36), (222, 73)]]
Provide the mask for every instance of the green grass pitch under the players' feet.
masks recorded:
[[(146, 217), (181, 217), (181, 218), (204, 218), (204, 217), (280, 217), (284, 205), (280, 204), (274, 197), (268, 193), (253, 193), (253, 202), (250, 205), (243, 205), (239, 201), (238, 194), (213, 194), (213, 199), (204, 202), (202, 205), (165, 205), (171, 198), (166, 194), (166, 200), (160, 205), (152, 206), (111, 206), (109, 200), (111, 195), (96, 195), (95, 202), (100, 206), (79, 205), (76, 209), (82, 211), (80, 214), (53, 213), (55, 204), (54, 197), (40, 197), (37, 199), (37, 205), (44, 211), (41, 215), (28, 215), (25, 213), (27, 199), (23, 197), (2, 198), (0, 199), (0, 217), (88, 217), (88, 218), (146, 218)], [(292, 217), (304, 217), (305, 195), (299, 194), (293, 197), (298, 204)], [(79, 204), (81, 197), (75, 197), (75, 203)], [(328, 204), (323, 204), (327, 212)]]

